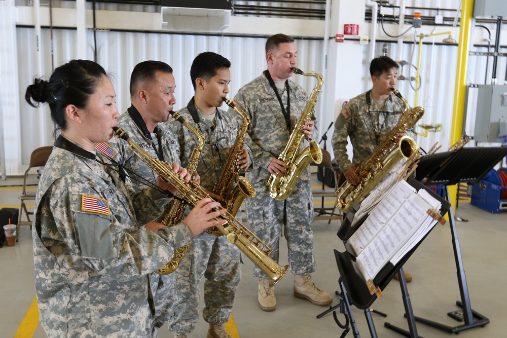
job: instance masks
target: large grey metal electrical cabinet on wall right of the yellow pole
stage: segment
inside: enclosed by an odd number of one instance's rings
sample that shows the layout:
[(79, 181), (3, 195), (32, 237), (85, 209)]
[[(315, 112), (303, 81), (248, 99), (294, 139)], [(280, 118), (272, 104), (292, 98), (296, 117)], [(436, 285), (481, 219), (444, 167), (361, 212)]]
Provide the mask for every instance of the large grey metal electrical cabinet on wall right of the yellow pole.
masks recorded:
[(507, 86), (478, 85), (474, 139), (498, 142), (500, 120), (507, 117)]

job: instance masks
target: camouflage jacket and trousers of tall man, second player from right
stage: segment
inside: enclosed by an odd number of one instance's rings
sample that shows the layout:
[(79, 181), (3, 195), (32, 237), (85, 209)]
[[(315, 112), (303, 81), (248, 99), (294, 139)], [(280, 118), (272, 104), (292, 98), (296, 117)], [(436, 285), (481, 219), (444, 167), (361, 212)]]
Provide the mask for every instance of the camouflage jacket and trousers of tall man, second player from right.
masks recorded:
[[(305, 91), (288, 80), (290, 88), (291, 126), (301, 117), (307, 102)], [(281, 101), (287, 102), (287, 91), (279, 90)], [(306, 275), (317, 270), (313, 255), (313, 196), (310, 185), (310, 168), (306, 168), (293, 193), (285, 201), (277, 201), (269, 196), (267, 182), (271, 175), (267, 169), (271, 160), (278, 158), (288, 143), (291, 133), (287, 130), (280, 103), (263, 73), (243, 86), (234, 100), (251, 118), (250, 137), (252, 140), (253, 167), (246, 178), (257, 192), (255, 199), (245, 200), (246, 217), (250, 230), (273, 249), (271, 258), (278, 262), (279, 238), (282, 228), (288, 246), (288, 262), (294, 274)], [(316, 128), (313, 138), (317, 138)], [(308, 139), (301, 142), (301, 149), (308, 146)], [(266, 278), (266, 275), (253, 266), (253, 276)]]

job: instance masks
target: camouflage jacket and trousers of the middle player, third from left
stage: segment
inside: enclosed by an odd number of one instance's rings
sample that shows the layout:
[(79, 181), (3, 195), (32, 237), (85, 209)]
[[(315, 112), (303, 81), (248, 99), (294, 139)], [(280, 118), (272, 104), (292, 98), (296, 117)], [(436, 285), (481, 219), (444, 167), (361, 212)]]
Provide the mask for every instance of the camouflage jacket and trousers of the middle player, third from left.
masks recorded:
[[(238, 128), (243, 124), (242, 120), (239, 120), (240, 117), (236, 112), (226, 112), (217, 108), (215, 121), (210, 121), (202, 117), (204, 113), (197, 108), (193, 98), (187, 107), (178, 110), (178, 114), (192, 127), (201, 131), (205, 143), (213, 143), (204, 145), (197, 165), (197, 172), (201, 176), (200, 184), (206, 190), (212, 191), (214, 184), (220, 179)], [(182, 164), (187, 166), (197, 145), (196, 137), (179, 122), (168, 123), (181, 145)], [(216, 144), (221, 138), (224, 140)], [(248, 146), (245, 147), (250, 153)], [(216, 237), (204, 232), (194, 237), (187, 254), (174, 272), (176, 294), (169, 330), (178, 335), (185, 335), (194, 330), (199, 319), (199, 284), (203, 277), (206, 277), (206, 280), (205, 307), (202, 316), (210, 324), (226, 323), (231, 316), (241, 277), (240, 261), (240, 250), (230, 243), (226, 236)]]

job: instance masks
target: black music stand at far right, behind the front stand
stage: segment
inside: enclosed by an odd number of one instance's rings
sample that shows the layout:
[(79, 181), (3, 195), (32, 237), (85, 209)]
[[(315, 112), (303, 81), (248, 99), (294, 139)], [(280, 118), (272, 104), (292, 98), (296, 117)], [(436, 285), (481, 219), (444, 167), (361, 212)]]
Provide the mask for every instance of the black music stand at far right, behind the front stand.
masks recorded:
[[(417, 166), (416, 179), (424, 181), (425, 185), (444, 185), (446, 200), (450, 202), (448, 185), (458, 182), (475, 183), (481, 180), (505, 155), (507, 155), (507, 147), (469, 147), (461, 148), (458, 151), (423, 156)], [(452, 208), (449, 209), (448, 216), (456, 261), (459, 293), (461, 295), (461, 301), (457, 301), (456, 305), (462, 308), (462, 310), (449, 312), (448, 315), (459, 321), (461, 321), (462, 317), (464, 324), (448, 326), (420, 317), (415, 317), (415, 320), (444, 332), (458, 334), (470, 328), (484, 327), (489, 323), (489, 319), (470, 307), (470, 298)]]

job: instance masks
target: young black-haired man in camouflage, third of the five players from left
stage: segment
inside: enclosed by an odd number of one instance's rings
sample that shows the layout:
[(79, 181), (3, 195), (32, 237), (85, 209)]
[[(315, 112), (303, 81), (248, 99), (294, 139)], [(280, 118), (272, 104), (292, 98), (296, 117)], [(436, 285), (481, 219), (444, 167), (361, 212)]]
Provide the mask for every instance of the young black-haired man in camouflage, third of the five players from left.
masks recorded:
[[(195, 95), (185, 108), (177, 111), (188, 124), (204, 135), (197, 172), (201, 185), (213, 190), (224, 170), (242, 124), (236, 112), (219, 109), (229, 93), (231, 62), (225, 57), (205, 52), (199, 54), (190, 68), (190, 77)], [(169, 127), (177, 135), (181, 145), (181, 161), (188, 165), (196, 146), (191, 131), (179, 122), (170, 121)], [(243, 149), (237, 164), (242, 170), (249, 167), (249, 155)], [(212, 197), (215, 197), (212, 195)], [(207, 233), (194, 238), (187, 254), (174, 272), (176, 275), (176, 294), (174, 296), (174, 315), (169, 321), (169, 330), (176, 337), (187, 337), (199, 319), (199, 284), (203, 277), (204, 303), (203, 318), (209, 323), (208, 338), (229, 338), (225, 323), (231, 315), (234, 297), (240, 280), (240, 251), (227, 236), (216, 237)]]

